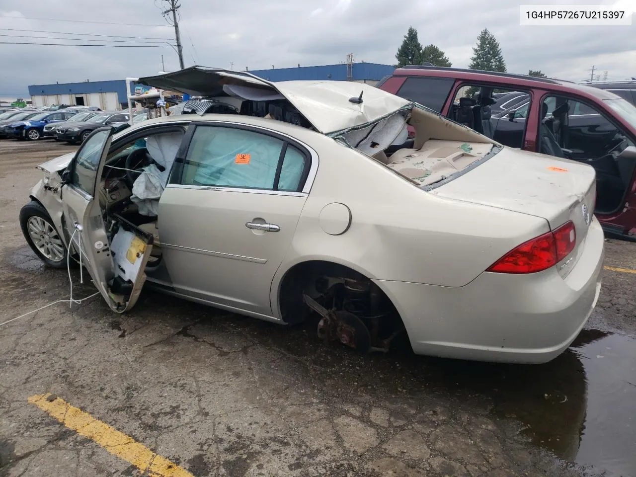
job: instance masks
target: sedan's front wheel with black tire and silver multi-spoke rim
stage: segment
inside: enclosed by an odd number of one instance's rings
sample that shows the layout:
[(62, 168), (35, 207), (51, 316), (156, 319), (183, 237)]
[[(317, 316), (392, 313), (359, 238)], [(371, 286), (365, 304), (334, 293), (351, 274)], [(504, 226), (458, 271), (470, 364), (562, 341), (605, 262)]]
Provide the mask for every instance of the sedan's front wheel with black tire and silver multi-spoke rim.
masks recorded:
[(66, 268), (67, 251), (53, 220), (41, 204), (32, 200), (20, 210), (20, 227), (36, 255), (48, 266)]

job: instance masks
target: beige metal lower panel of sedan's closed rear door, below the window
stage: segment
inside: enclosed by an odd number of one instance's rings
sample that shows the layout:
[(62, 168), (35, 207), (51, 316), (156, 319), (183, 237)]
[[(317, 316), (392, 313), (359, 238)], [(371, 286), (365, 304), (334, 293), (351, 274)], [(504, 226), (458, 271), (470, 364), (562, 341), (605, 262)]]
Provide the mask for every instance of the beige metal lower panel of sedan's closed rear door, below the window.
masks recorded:
[(159, 226), (172, 286), (195, 298), (270, 316), (272, 280), (305, 200), (304, 195), (168, 186)]

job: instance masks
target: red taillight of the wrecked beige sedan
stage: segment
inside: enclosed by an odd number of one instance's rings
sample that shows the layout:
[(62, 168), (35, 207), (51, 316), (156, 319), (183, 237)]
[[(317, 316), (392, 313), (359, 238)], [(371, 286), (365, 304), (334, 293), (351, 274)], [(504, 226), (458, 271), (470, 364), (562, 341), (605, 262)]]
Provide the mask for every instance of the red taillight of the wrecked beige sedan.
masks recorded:
[(570, 221), (554, 232), (528, 240), (497, 260), (487, 272), (535, 273), (556, 265), (576, 245), (574, 224)]

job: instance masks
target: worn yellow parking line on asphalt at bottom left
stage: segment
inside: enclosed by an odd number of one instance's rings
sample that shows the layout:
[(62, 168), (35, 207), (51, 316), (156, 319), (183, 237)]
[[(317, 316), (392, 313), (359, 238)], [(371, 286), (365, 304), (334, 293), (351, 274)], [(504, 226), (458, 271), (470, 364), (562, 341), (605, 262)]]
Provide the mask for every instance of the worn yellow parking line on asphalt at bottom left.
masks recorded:
[(60, 397), (52, 394), (36, 394), (29, 397), (29, 403), (48, 412), (69, 429), (95, 441), (111, 454), (130, 462), (140, 471), (147, 472), (149, 477), (193, 477), (190, 472), (174, 462), (157, 455), (135, 439), (116, 431), (81, 409), (71, 406)]

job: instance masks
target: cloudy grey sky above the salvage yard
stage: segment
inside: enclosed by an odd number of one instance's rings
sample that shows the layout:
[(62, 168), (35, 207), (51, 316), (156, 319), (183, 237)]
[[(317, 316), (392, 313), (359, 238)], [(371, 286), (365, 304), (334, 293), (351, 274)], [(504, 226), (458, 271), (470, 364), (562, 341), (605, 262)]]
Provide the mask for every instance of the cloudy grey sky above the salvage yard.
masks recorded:
[[(181, 0), (181, 39), (186, 66), (265, 69), (356, 60), (394, 64), (409, 26), (423, 45), (434, 43), (453, 66), (467, 67), (476, 37), (488, 28), (499, 40), (509, 72), (540, 69), (579, 81), (592, 65), (609, 79), (636, 76), (636, 20), (631, 27), (520, 27), (520, 4), (636, 4), (636, 0)], [(33, 8), (37, 4), (38, 8)], [(122, 79), (178, 69), (170, 46), (104, 48), (51, 46), (104, 43), (99, 36), (163, 38), (174, 30), (161, 15), (161, 0), (0, 0), (0, 96), (27, 95), (27, 85)], [(633, 8), (633, 7), (632, 7)], [(74, 22), (53, 21), (76, 20)], [(104, 22), (104, 23), (87, 23)], [(142, 24), (122, 25), (122, 24)], [(154, 26), (146, 26), (154, 25)], [(20, 30), (20, 31), (16, 31)], [(24, 31), (32, 30), (32, 31)], [(56, 33), (50, 33), (56, 32)], [(61, 32), (57, 33), (57, 32)], [(21, 36), (9, 36), (21, 35)], [(111, 45), (125, 43), (118, 39)], [(140, 39), (155, 45), (164, 40)]]

